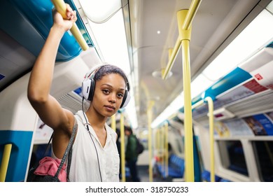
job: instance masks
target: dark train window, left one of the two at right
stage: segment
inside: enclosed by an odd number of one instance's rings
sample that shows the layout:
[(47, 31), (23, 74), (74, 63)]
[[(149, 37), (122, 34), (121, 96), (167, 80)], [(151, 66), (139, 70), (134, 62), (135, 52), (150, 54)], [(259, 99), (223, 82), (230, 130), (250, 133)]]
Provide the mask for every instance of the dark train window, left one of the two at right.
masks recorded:
[(248, 176), (244, 148), (241, 145), (241, 141), (218, 141), (218, 145), (221, 149), (223, 167)]

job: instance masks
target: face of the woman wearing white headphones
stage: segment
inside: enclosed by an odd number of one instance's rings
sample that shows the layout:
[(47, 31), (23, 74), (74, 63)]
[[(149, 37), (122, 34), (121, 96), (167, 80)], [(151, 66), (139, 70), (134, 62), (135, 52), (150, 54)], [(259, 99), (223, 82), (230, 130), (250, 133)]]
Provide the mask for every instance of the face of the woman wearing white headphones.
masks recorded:
[(105, 117), (115, 114), (123, 102), (125, 80), (118, 73), (109, 73), (96, 81), (92, 106)]

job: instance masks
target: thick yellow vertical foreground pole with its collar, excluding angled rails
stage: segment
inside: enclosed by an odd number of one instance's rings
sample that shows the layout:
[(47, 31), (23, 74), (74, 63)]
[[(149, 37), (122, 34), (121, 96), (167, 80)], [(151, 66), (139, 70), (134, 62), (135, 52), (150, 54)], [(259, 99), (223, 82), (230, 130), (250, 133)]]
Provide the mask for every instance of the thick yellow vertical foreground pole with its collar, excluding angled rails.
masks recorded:
[(181, 38), (182, 59), (183, 59), (183, 90), (184, 90), (184, 127), (185, 127), (185, 172), (186, 181), (194, 181), (194, 163), (193, 163), (193, 117), (190, 92), (190, 34), (191, 26), (188, 29), (182, 29), (183, 22), (188, 10), (179, 10), (177, 12), (177, 21), (179, 25), (179, 37)]

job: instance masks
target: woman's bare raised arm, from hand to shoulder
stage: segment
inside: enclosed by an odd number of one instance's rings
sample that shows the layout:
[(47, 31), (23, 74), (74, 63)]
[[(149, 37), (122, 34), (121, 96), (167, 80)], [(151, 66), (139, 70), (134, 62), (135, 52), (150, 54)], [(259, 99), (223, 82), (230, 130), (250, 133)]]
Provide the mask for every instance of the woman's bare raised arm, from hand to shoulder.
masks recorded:
[(52, 14), (54, 23), (31, 71), (27, 97), (43, 123), (53, 130), (70, 130), (73, 127), (73, 113), (62, 109), (50, 95), (50, 87), (59, 43), (64, 33), (76, 22), (76, 12), (66, 5), (66, 19), (55, 10)]

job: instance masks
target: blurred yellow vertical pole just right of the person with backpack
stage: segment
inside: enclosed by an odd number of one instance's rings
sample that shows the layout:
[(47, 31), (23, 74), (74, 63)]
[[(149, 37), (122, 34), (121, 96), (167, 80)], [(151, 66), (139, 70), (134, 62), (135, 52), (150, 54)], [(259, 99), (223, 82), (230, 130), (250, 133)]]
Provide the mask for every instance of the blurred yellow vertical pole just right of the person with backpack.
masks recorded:
[(153, 105), (155, 104), (154, 101), (150, 101), (148, 103), (148, 110), (147, 110), (147, 116), (148, 116), (148, 150), (149, 150), (149, 181), (153, 182), (153, 149), (152, 149), (152, 118), (153, 118)]

